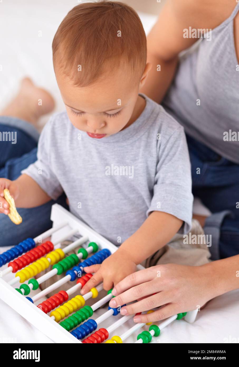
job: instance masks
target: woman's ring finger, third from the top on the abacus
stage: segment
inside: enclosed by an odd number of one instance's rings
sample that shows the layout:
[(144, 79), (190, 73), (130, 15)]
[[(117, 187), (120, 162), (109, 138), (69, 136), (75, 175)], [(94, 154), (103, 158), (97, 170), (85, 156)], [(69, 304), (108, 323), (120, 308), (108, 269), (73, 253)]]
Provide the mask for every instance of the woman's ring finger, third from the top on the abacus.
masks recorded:
[(162, 291), (154, 295), (150, 295), (141, 301), (134, 302), (121, 308), (121, 315), (133, 315), (134, 313), (144, 312), (153, 308), (163, 306), (172, 301), (172, 295), (167, 291)]

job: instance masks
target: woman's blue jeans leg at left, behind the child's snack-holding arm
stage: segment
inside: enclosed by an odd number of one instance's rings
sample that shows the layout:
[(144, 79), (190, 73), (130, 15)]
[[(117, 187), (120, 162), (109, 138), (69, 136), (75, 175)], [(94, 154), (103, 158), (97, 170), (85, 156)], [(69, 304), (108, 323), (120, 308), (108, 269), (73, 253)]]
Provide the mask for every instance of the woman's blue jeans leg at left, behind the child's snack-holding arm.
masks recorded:
[[(26, 121), (7, 116), (0, 116), (0, 132), (15, 132), (15, 144), (11, 141), (0, 141), (0, 178), (15, 180), (24, 168), (37, 160), (39, 134)], [(7, 215), (0, 214), (0, 246), (16, 245), (27, 237), (37, 237), (51, 228), (50, 215), (54, 203), (68, 209), (65, 194), (57, 201), (51, 200), (36, 208), (20, 208), (18, 212), (22, 217), (22, 224), (18, 226), (13, 224)]]

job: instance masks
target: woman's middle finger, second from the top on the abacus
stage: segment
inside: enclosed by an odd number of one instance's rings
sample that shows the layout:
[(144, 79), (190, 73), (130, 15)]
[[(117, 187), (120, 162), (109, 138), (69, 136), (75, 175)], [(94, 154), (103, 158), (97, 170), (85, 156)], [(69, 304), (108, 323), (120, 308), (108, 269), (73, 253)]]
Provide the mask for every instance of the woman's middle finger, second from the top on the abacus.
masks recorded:
[[(127, 279), (127, 277), (125, 279)], [(156, 286), (158, 289), (156, 289)], [(141, 283), (111, 299), (109, 305), (110, 307), (122, 306), (126, 303), (136, 301), (139, 298), (149, 296), (153, 294), (155, 291), (157, 292), (161, 291), (161, 289), (158, 287), (158, 284), (155, 284), (155, 281), (148, 281), (146, 283)]]

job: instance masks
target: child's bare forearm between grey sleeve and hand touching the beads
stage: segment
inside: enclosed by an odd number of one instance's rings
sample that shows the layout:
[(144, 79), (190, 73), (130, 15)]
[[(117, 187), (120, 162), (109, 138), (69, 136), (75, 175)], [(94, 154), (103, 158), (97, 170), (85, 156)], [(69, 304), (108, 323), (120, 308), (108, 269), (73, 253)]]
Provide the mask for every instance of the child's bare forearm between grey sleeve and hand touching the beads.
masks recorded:
[(140, 264), (165, 246), (181, 228), (183, 221), (174, 215), (153, 211), (141, 227), (120, 246), (135, 264)]

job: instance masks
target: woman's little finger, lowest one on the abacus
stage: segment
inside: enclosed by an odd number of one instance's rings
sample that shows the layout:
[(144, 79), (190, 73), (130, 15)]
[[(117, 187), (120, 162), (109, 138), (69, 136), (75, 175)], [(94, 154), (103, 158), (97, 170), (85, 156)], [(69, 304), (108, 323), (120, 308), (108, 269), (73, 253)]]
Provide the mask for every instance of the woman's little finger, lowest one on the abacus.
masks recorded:
[(164, 319), (167, 319), (170, 316), (176, 315), (176, 305), (170, 303), (168, 305), (165, 305), (161, 307), (161, 309), (146, 313), (143, 315), (135, 315), (133, 318), (135, 323), (148, 323), (148, 322), (155, 322), (155, 321), (161, 321)]

